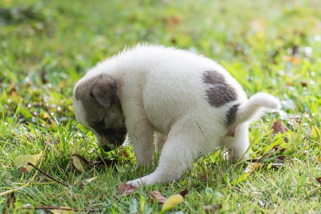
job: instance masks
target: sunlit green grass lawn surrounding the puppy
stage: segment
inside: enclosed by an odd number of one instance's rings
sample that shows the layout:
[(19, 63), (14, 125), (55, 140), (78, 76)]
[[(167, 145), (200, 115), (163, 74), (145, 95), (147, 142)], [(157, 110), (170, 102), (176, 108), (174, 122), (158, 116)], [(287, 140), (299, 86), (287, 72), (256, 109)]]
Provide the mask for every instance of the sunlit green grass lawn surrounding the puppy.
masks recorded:
[[(169, 213), (206, 213), (205, 205), (222, 205), (217, 213), (320, 213), (320, 7), (312, 0), (1, 2), (1, 212), (48, 213), (37, 207), (67, 206), (82, 213), (157, 213), (161, 205), (151, 202), (149, 192), (169, 197), (186, 187), (184, 202)], [(126, 146), (128, 158), (112, 154), (114, 167), (85, 166), (84, 173), (73, 167), (70, 180), (73, 142), (86, 159), (100, 156), (94, 135), (76, 125), (73, 86), (95, 63), (137, 42), (205, 54), (249, 95), (266, 91), (282, 100), (283, 111), (251, 125), (251, 157), (279, 144), (261, 160), (265, 167), (245, 174), (248, 163), (231, 165), (218, 150), (200, 157), (177, 182), (119, 198), (119, 184), (155, 168), (135, 170), (133, 149)], [(274, 135), (275, 121), (288, 131)], [(13, 164), (43, 151), (50, 132), (41, 169), (70, 187), (42, 173), (32, 180), (35, 169), (23, 173)], [(280, 156), (286, 157), (284, 167), (269, 169)], [(89, 178), (95, 180), (82, 186)]]

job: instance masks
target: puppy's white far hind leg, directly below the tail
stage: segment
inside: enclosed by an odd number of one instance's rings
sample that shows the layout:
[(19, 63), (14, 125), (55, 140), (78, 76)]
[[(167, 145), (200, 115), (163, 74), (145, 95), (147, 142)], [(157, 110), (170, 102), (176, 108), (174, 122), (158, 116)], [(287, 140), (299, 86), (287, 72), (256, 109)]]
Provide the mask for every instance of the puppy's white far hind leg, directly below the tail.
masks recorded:
[(236, 161), (241, 157), (246, 159), (248, 157), (246, 151), (249, 147), (249, 123), (237, 125), (234, 137), (227, 134), (222, 139), (222, 143), (227, 152), (227, 160)]

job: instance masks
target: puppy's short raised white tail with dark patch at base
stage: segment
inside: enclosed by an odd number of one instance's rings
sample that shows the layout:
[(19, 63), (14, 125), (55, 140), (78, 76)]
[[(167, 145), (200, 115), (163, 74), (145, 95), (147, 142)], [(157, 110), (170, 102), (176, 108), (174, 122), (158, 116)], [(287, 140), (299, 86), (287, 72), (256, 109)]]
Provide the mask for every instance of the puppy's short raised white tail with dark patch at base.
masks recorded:
[(247, 102), (237, 105), (233, 124), (257, 120), (266, 110), (278, 110), (280, 108), (281, 104), (274, 96), (263, 92), (256, 93)]

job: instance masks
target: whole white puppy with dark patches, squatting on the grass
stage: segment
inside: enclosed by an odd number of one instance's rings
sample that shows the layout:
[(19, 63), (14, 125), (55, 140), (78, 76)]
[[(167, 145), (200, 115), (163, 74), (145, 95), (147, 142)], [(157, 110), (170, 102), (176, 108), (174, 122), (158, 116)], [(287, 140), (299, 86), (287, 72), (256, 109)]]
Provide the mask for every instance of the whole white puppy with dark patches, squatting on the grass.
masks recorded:
[[(160, 151), (158, 167), (133, 186), (177, 180), (200, 155), (225, 147), (246, 157), (248, 128), (280, 103), (266, 93), (249, 100), (216, 62), (188, 51), (137, 45), (92, 68), (74, 89), (76, 119), (106, 151), (130, 138), (137, 166)], [(155, 137), (155, 140), (154, 140)]]

